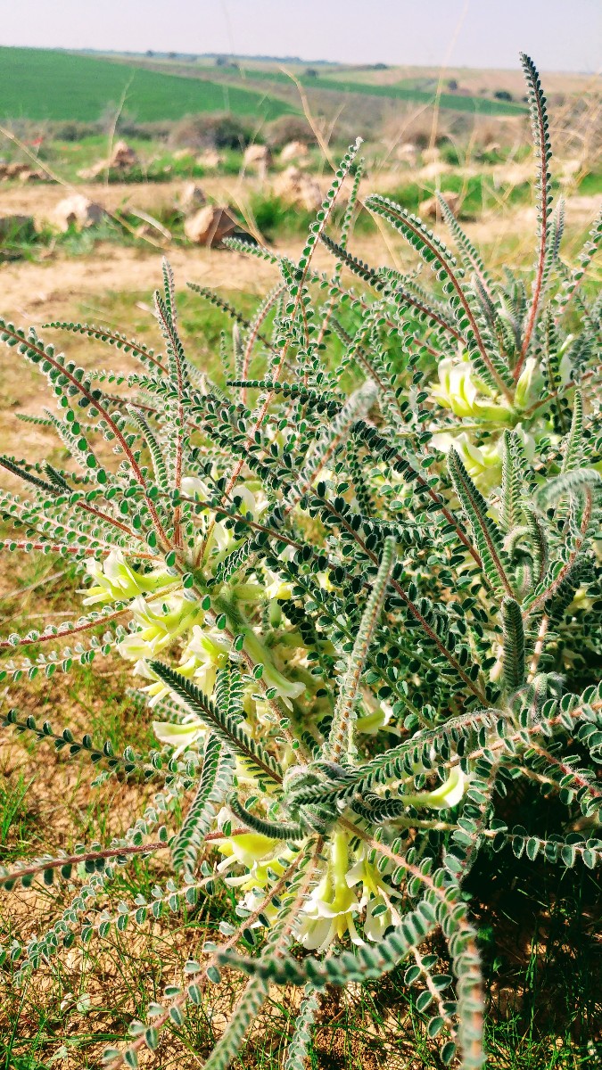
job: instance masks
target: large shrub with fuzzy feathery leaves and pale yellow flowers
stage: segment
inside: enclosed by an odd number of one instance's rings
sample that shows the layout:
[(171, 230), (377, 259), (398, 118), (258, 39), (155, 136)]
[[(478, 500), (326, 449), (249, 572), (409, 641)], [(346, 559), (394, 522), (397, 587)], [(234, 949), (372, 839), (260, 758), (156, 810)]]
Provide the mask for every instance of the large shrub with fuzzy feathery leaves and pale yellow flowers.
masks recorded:
[[(479, 1067), (465, 893), (476, 858), (509, 846), (562, 866), (602, 858), (600, 304), (580, 286), (600, 227), (571, 271), (562, 205), (551, 208), (545, 104), (524, 67), (540, 160), (530, 293), (510, 274), (490, 278), (443, 202), (460, 261), (397, 204), (366, 201), (434, 270), (433, 293), (416, 273), (353, 257), (355, 146), (298, 263), (247, 249), (282, 281), (253, 321), (231, 310), (226, 391), (186, 360), (167, 265), (155, 295), (165, 356), (109, 328), (52, 324), (139, 360), (124, 397), (109, 391), (123, 377), (88, 373), (35, 332), (0, 325), (47, 376), (58, 402), (47, 423), (74, 462), (3, 458), (30, 491), (3, 493), (4, 548), (76, 562), (86, 607), (75, 626), (9, 636), (4, 674), (50, 677), (116, 652), (144, 682), (157, 747), (120, 759), (18, 708), (6, 722), (88, 752), (96, 780), (121, 770), (161, 784), (108, 846), (3, 872), (9, 889), (70, 877), (78, 862), (90, 874), (48, 933), (10, 949), (17, 981), (76, 938), (159, 916), (161, 897), (139, 895), (117, 918), (90, 920), (116, 867), (140, 852), (170, 852), (172, 910), (217, 882), (238, 902), (240, 928), (222, 927), (224, 942), (187, 963), (107, 1066), (136, 1066), (228, 967), (249, 983), (206, 1067), (226, 1067), (269, 987), (291, 984), (304, 996), (286, 1066), (301, 1068), (327, 984), (378, 978), (441, 930), (454, 976), (420, 958), (409, 981), (422, 978), (442, 1063)], [(329, 216), (353, 168), (335, 242)], [(320, 240), (332, 274), (312, 266)], [(344, 286), (344, 265), (366, 292)], [(518, 781), (530, 809), (513, 806)], [(553, 812), (540, 806), (551, 794)]]

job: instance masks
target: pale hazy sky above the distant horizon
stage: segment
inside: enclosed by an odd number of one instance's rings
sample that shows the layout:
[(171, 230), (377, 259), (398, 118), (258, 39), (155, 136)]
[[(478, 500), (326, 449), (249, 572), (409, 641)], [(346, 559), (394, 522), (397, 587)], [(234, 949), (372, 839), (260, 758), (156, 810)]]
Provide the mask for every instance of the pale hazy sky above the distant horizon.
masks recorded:
[(600, 0), (0, 0), (0, 44), (588, 71)]

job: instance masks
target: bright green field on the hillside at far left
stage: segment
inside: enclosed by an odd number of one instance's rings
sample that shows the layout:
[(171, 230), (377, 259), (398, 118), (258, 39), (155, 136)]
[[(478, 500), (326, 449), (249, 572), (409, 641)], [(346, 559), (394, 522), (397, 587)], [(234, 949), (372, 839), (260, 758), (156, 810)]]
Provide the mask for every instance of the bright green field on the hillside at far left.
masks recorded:
[(144, 67), (36, 48), (0, 48), (0, 116), (95, 122), (107, 107), (137, 122), (181, 119), (197, 111), (276, 119), (294, 109), (268, 94), (159, 74)]

